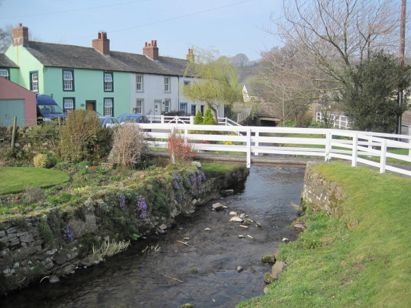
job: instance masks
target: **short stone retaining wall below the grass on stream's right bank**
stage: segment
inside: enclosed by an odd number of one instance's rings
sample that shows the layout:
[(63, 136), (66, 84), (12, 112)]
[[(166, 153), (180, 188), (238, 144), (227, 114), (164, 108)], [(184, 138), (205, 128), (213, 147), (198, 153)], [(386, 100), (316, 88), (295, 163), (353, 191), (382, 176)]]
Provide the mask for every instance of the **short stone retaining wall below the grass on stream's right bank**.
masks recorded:
[(310, 204), (323, 209), (329, 215), (337, 215), (340, 210), (338, 203), (342, 198), (342, 191), (335, 182), (323, 178), (319, 172), (310, 168), (310, 164), (307, 164), (301, 195), (301, 199), (306, 205)]

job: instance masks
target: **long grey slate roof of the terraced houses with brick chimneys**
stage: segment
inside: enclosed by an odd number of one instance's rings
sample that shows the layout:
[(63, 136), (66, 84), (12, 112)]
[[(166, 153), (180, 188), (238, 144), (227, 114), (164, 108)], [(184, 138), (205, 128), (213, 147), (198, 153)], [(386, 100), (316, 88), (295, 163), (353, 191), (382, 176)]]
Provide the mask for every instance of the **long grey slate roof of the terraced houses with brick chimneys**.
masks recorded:
[(120, 51), (110, 51), (106, 56), (90, 47), (45, 42), (30, 42), (27, 51), (44, 66), (64, 68), (182, 76), (188, 64), (183, 59), (159, 57), (153, 61), (145, 55)]

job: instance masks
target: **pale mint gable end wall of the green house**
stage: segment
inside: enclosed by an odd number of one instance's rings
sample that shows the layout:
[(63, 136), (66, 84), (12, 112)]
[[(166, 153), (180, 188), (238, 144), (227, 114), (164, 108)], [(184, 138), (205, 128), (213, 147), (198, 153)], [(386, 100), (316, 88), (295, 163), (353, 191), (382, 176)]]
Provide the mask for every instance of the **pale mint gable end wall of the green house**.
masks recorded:
[(43, 75), (43, 65), (32, 56), (26, 47), (23, 46), (10, 46), (5, 52), (10, 60), (20, 66), (20, 69), (11, 72), (10, 78), (12, 81), (16, 82), (23, 88), (30, 90), (30, 72), (38, 71), (38, 94), (46, 94), (44, 92), (44, 75)]

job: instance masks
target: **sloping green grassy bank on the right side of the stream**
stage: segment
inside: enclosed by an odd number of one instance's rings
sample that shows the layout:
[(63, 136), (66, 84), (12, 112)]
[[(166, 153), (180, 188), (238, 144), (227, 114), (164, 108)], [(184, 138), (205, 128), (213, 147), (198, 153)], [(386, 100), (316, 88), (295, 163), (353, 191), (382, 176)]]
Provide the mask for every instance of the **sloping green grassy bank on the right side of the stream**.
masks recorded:
[(313, 166), (345, 192), (342, 214), (308, 207), (307, 229), (282, 245), (282, 277), (239, 307), (409, 307), (411, 180), (368, 168)]

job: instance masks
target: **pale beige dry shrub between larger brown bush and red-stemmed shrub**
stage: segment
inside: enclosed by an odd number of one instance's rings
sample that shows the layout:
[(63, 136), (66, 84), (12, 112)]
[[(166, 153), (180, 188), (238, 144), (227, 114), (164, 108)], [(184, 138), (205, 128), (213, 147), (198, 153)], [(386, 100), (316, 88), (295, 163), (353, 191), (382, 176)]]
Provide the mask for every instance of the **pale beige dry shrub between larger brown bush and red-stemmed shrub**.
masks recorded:
[(124, 123), (114, 129), (112, 158), (122, 166), (134, 166), (147, 146), (147, 134), (136, 123)]

